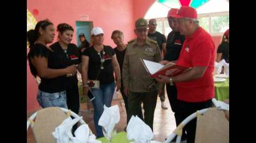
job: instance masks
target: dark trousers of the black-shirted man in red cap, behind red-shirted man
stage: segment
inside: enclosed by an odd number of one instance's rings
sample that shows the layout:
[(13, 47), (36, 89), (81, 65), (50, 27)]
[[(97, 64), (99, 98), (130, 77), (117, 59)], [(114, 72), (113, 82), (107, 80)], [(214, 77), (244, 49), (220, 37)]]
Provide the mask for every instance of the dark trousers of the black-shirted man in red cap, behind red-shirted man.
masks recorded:
[[(170, 103), (170, 108), (174, 112), (176, 126), (179, 126), (180, 122), (183, 121), (179, 110), (179, 100), (177, 99), (177, 88), (176, 86), (170, 86), (166, 84), (166, 92)], [(182, 130), (182, 141), (186, 139), (185, 130)]]

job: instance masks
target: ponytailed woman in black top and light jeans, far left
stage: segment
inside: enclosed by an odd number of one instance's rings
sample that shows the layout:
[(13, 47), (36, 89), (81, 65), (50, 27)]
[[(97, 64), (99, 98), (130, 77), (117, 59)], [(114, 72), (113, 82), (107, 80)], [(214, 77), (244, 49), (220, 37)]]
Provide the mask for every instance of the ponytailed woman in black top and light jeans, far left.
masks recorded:
[(37, 101), (42, 108), (59, 106), (67, 108), (64, 78), (76, 73), (75, 65), (64, 67), (56, 53), (47, 47), (54, 40), (54, 25), (44, 20), (36, 24), (35, 29), (27, 32), (29, 41), (29, 67), (34, 77), (39, 76), (41, 83), (37, 92)]

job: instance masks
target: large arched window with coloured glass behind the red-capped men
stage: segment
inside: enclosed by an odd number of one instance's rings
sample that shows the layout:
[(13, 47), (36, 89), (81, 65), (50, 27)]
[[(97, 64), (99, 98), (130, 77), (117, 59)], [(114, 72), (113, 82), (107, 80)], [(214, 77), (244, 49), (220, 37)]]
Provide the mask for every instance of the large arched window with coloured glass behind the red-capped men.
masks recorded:
[[(179, 8), (181, 4), (188, 2), (189, 6), (197, 9), (199, 25), (209, 32), (210, 35), (223, 35), (229, 29), (229, 1), (227, 0), (157, 0), (152, 4), (145, 19), (155, 18), (157, 30), (167, 36), (170, 29), (167, 19), (170, 8)], [(161, 25), (162, 24), (162, 25)]]

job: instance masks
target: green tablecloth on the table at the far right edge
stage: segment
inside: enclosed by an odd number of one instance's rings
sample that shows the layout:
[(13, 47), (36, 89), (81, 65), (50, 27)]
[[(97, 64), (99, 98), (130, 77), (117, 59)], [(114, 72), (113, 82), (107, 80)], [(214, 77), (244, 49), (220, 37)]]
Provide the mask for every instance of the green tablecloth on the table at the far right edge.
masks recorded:
[(229, 79), (224, 82), (214, 83), (215, 98), (220, 101), (229, 99)]

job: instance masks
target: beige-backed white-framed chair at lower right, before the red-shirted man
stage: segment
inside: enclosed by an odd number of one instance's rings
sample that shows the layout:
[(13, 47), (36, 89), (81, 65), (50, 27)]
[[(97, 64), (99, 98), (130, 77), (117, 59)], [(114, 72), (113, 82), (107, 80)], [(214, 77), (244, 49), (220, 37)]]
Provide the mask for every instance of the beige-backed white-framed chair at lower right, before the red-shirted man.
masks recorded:
[(229, 142), (229, 121), (225, 118), (224, 111), (220, 111), (217, 108), (206, 108), (185, 118), (165, 140), (165, 143), (171, 142), (175, 136), (177, 136), (176, 143), (180, 143), (182, 129), (188, 122), (196, 117), (197, 129), (195, 133), (195, 143)]

